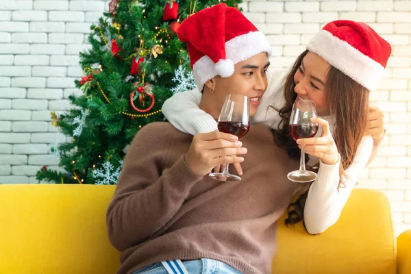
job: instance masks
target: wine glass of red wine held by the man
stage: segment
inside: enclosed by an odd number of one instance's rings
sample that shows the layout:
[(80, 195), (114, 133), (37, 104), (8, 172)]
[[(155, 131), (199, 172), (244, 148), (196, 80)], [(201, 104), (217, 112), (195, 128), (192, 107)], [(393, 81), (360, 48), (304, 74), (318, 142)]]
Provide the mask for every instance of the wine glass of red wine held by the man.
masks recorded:
[[(219, 131), (240, 138), (249, 131), (249, 121), (249, 98), (244, 95), (227, 95), (219, 116)], [(225, 164), (223, 172), (210, 173), (209, 176), (219, 181), (241, 181), (239, 176), (228, 172), (228, 166), (229, 164)]]

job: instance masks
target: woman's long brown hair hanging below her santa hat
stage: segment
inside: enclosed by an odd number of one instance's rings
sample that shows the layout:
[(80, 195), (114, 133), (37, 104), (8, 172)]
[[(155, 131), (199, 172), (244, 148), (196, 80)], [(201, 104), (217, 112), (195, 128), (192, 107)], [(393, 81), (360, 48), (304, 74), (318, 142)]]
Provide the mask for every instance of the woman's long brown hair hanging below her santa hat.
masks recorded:
[[(287, 76), (284, 87), (286, 103), (277, 110), (281, 121), (275, 134), (277, 145), (288, 151), (290, 158), (299, 159), (301, 150), (290, 134), (290, 114), (292, 105), (297, 99), (294, 88), (294, 75), (297, 73), (303, 58), (308, 51), (299, 55), (292, 70)], [(345, 181), (350, 179), (345, 170), (351, 166), (357, 152), (358, 145), (366, 129), (367, 115), (369, 112), (369, 90), (355, 82), (334, 66), (330, 66), (325, 82), (325, 100), (329, 105), (329, 113), (335, 116), (336, 124), (333, 127), (333, 138), (341, 155), (340, 182), (338, 188), (345, 186)], [(306, 155), (306, 160), (308, 155)], [(286, 225), (293, 225), (303, 220), (304, 206), (308, 197), (308, 190), (300, 195), (294, 203), (288, 206), (288, 219)]]

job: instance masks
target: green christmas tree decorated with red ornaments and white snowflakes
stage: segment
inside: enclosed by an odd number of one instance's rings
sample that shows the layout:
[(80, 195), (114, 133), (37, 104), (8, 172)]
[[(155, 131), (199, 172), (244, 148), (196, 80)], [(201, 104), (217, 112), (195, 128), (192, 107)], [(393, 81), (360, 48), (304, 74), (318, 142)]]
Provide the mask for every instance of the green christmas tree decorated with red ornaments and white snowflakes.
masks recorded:
[[(195, 88), (185, 45), (176, 32), (185, 18), (224, 2), (241, 0), (112, 0), (110, 11), (91, 25), (91, 49), (80, 53), (83, 95), (52, 123), (72, 142), (55, 144), (64, 171), (43, 166), (39, 181), (116, 184), (126, 147), (138, 130), (164, 121), (162, 104), (173, 93)], [(161, 132), (159, 132), (161, 134)]]

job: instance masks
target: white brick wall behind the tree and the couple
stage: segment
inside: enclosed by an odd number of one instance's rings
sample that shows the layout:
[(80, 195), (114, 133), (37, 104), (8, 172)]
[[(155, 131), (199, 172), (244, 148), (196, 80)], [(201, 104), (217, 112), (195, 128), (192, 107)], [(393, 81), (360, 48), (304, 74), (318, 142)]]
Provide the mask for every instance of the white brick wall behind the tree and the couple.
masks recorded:
[[(50, 123), (50, 111), (70, 108), (81, 95), (79, 51), (90, 24), (109, 0), (0, 1), (0, 182), (36, 183), (34, 174), (58, 159), (49, 154), (66, 140)], [(272, 69), (289, 66), (325, 23), (369, 23), (393, 45), (379, 90), (371, 101), (386, 112), (387, 133), (359, 186), (386, 193), (397, 233), (411, 228), (411, 1), (246, 0), (245, 14), (273, 46)]]

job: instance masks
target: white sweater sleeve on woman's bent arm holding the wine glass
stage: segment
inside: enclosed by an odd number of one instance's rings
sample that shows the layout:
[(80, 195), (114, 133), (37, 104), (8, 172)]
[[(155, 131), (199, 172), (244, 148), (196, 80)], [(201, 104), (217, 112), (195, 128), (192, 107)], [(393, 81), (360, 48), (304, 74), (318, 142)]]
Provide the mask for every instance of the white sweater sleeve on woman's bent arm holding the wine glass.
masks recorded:
[(341, 188), (338, 188), (340, 160), (334, 165), (320, 161), (318, 177), (308, 190), (304, 208), (304, 222), (308, 233), (320, 234), (338, 221), (351, 191), (369, 161), (372, 150), (373, 138), (364, 136), (353, 163), (345, 171), (348, 175), (345, 187)]

